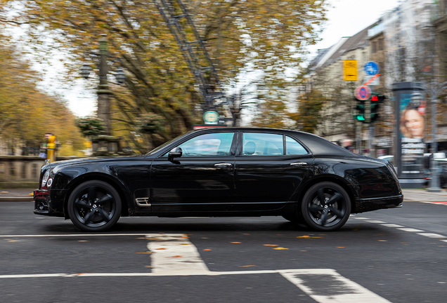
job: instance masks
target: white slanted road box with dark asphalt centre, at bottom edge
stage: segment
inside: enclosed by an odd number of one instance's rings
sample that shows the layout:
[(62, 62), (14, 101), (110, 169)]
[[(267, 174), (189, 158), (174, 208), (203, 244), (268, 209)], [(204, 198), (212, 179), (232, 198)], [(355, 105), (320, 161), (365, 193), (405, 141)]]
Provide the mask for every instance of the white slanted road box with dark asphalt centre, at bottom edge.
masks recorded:
[(389, 303), (374, 292), (344, 278), (334, 269), (302, 269), (282, 272), (282, 276), (297, 285), (320, 303)]

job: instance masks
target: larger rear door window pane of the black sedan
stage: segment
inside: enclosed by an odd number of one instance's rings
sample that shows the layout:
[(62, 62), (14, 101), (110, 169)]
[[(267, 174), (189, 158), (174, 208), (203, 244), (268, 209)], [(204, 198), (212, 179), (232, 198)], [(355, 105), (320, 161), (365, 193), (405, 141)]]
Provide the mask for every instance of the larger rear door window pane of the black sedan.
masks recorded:
[(268, 133), (244, 133), (242, 155), (278, 156), (283, 154), (283, 135)]

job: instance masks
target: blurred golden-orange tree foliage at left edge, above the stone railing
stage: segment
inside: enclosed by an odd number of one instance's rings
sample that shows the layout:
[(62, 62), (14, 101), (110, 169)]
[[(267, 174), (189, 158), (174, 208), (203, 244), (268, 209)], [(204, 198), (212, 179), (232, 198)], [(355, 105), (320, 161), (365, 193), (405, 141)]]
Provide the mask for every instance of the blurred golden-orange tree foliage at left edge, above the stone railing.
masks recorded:
[(30, 147), (39, 147), (46, 131), (58, 142), (70, 145), (70, 151), (84, 148), (74, 115), (56, 97), (37, 88), (39, 75), (23, 60), (23, 54), (0, 35), (0, 137), (18, 140)]

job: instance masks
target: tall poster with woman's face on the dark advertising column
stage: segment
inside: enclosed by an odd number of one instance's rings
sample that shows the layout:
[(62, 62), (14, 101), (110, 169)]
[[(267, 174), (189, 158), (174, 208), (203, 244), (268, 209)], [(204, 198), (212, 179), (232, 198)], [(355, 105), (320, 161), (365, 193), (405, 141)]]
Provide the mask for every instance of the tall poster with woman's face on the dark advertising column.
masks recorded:
[[(421, 96), (422, 97), (422, 96)], [(411, 93), (401, 94), (400, 130), (403, 174), (422, 173), (425, 153), (425, 100)]]

